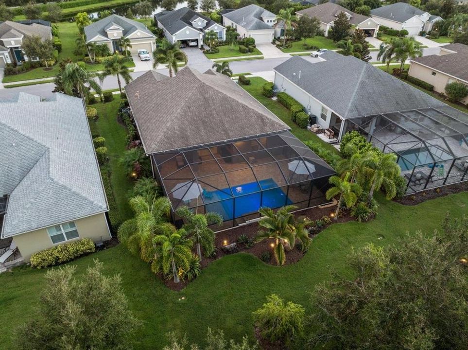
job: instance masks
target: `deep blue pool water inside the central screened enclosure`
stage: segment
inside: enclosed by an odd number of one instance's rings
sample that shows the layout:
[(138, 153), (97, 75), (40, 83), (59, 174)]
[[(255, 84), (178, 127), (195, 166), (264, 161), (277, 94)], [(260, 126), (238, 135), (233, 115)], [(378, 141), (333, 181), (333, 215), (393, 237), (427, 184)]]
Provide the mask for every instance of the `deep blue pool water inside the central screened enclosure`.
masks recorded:
[[(233, 215), (238, 218), (257, 212), (260, 207), (279, 208), (286, 204), (293, 204), (286, 194), (277, 187), (278, 185), (273, 179), (260, 180), (259, 182), (261, 188), (257, 182), (231, 187), (236, 198), (235, 208), (233, 208), (234, 200), (228, 194), (230, 193), (228, 188), (208, 192), (208, 196), (212, 196), (211, 201), (221, 200), (221, 202), (207, 204), (206, 210), (220, 213), (226, 221), (232, 220)], [(259, 191), (262, 189), (263, 192), (261, 194)]]

